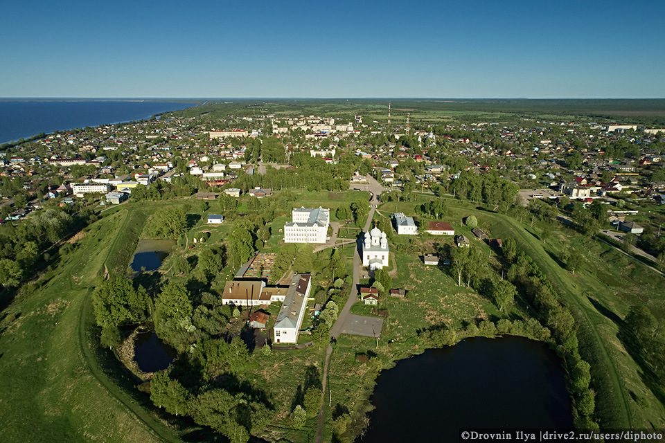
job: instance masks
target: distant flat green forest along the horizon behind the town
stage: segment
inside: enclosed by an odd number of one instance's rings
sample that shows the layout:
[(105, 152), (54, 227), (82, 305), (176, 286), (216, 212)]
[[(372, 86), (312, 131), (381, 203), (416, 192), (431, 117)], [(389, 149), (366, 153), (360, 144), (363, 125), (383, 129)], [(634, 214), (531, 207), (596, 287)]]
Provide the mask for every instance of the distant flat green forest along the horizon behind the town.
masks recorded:
[[(211, 114), (211, 118), (257, 115), (257, 112), (276, 115), (295, 112), (312, 115), (352, 116), (362, 114), (366, 118), (387, 117), (388, 103), (393, 110), (393, 123), (405, 118), (411, 111), (414, 122), (418, 114), (454, 116), (456, 120), (477, 120), (483, 114), (490, 118), (565, 118), (596, 121), (597, 123), (624, 123), (644, 126), (665, 126), (665, 99), (528, 99), (528, 98), (252, 98), (211, 99), (204, 105), (174, 111), (176, 116)], [(239, 110), (238, 105), (245, 109)], [(368, 115), (369, 113), (369, 115)], [(458, 114), (459, 113), (459, 114)], [(260, 115), (258, 114), (258, 115)], [(416, 114), (416, 115), (414, 115)], [(489, 116), (488, 116), (489, 117)], [(369, 123), (369, 122), (365, 122)]]

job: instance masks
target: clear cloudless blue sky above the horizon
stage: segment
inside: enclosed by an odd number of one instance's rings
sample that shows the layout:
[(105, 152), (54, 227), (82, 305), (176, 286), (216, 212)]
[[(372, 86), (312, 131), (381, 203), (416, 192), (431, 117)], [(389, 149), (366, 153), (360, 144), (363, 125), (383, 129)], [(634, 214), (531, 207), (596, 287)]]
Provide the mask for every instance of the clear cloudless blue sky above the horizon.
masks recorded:
[(0, 97), (665, 98), (665, 2), (14, 1)]

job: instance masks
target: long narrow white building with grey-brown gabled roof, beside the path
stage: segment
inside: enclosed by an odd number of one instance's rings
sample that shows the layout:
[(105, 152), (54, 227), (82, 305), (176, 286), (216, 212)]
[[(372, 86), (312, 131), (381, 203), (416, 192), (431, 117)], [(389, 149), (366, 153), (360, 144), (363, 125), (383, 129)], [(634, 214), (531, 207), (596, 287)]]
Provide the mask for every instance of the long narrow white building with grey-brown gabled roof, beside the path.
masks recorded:
[(312, 289), (310, 274), (296, 274), (286, 292), (273, 329), (273, 343), (298, 343), (298, 332), (307, 310), (307, 298)]

